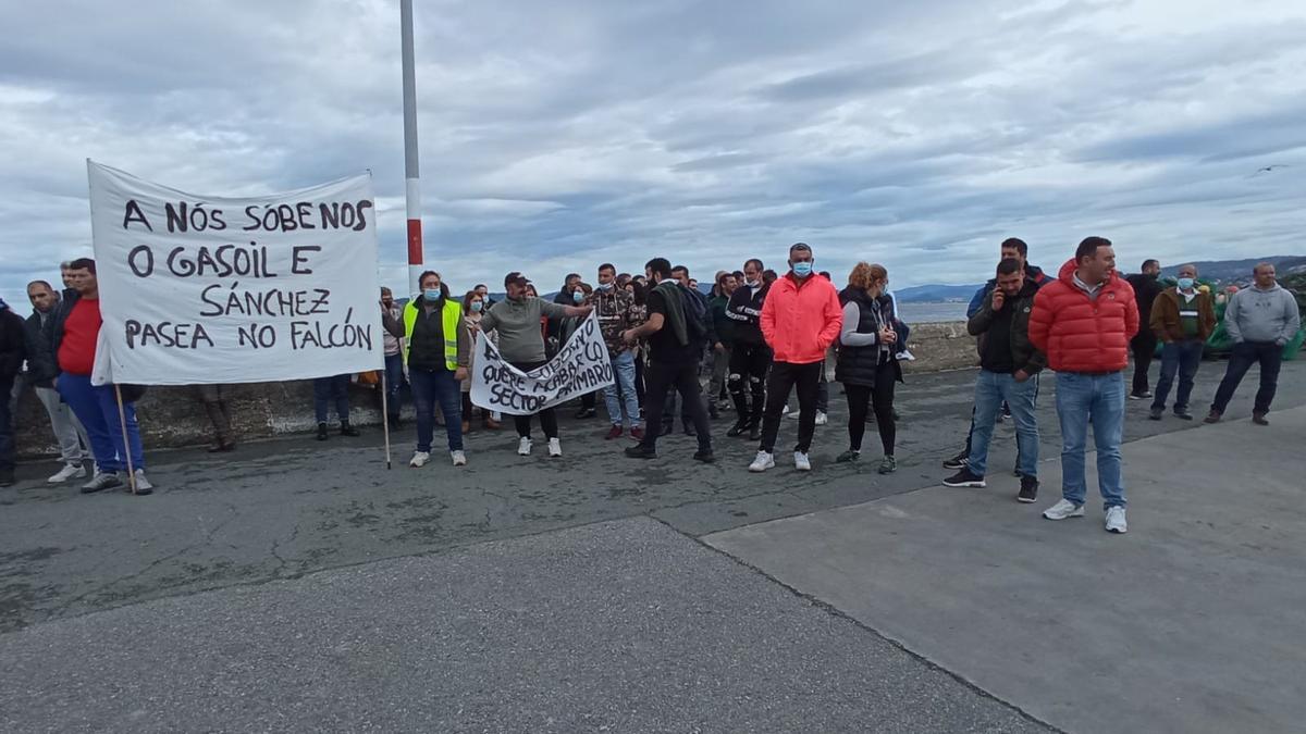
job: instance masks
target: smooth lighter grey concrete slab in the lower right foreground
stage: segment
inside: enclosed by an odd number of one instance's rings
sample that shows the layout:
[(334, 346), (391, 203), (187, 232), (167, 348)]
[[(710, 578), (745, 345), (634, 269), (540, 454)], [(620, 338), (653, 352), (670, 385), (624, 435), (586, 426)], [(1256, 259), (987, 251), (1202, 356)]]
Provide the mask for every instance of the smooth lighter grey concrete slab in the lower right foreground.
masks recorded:
[(1127, 444), (1127, 535), (1092, 495), (1040, 517), (1053, 460), (1036, 505), (1008, 477), (705, 541), (1070, 731), (1299, 731), (1303, 441), (1306, 407)]

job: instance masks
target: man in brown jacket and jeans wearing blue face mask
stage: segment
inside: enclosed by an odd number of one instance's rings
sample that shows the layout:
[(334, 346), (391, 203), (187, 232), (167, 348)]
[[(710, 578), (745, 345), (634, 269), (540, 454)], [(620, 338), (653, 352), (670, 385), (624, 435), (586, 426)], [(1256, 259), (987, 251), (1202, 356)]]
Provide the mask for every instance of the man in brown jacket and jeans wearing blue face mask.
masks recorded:
[(1174, 415), (1192, 421), (1188, 413), (1188, 397), (1192, 396), (1192, 381), (1202, 366), (1202, 350), (1207, 338), (1216, 328), (1216, 310), (1207, 291), (1198, 290), (1198, 266), (1179, 268), (1178, 285), (1166, 289), (1152, 303), (1152, 319), (1148, 324), (1156, 338), (1161, 340), (1161, 375), (1156, 380), (1156, 397), (1152, 401), (1152, 421), (1165, 415), (1165, 400), (1170, 394), (1174, 376), (1179, 376), (1179, 392), (1174, 396)]

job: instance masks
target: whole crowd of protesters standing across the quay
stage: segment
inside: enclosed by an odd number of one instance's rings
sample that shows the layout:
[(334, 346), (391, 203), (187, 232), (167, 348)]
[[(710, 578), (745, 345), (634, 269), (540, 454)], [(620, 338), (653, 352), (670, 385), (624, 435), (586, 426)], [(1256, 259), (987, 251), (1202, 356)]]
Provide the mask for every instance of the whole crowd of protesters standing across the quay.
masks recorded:
[[(1084, 239), (1074, 257), (1050, 277), (1029, 264), (1028, 246), (1004, 240), (994, 277), (968, 308), (968, 330), (977, 337), (980, 372), (965, 449), (944, 462), (956, 474), (953, 487), (985, 487), (989, 444), (998, 422), (1016, 428), (1016, 474), (1020, 502), (1038, 495), (1040, 375), (1057, 375), (1057, 414), (1063, 436), (1062, 498), (1043, 512), (1049, 520), (1084, 516), (1084, 456), (1093, 430), (1098, 490), (1105, 528), (1124, 533), (1126, 492), (1121, 441), (1126, 398), (1152, 398), (1149, 418), (1161, 421), (1178, 380), (1173, 415), (1188, 411), (1203, 346), (1216, 327), (1215, 299), (1198, 283), (1194, 265), (1179, 269), (1177, 283), (1158, 281), (1160, 264), (1148, 260), (1128, 278), (1117, 273), (1115, 253), (1104, 238)], [(1268, 424), (1284, 345), (1301, 327), (1297, 303), (1276, 282), (1273, 265), (1255, 269), (1255, 283), (1229, 296), (1224, 323), (1233, 355), (1205, 418), (1218, 422), (1239, 381), (1260, 366), (1252, 421)], [(0, 300), (0, 388), (14, 400), (25, 384), (35, 388), (59, 441), (63, 468), (51, 483), (88, 478), (84, 492), (129, 485), (149, 494), (145, 457), (129, 385), (93, 385), (95, 341), (101, 327), (95, 263), (63, 265), (63, 293), (46, 281), (27, 286), (33, 307), (24, 320)], [(721, 270), (708, 294), (688, 268), (653, 257), (643, 273), (620, 273), (613, 264), (596, 272), (594, 285), (568, 274), (556, 296), (543, 299), (520, 272), (504, 277), (505, 299), (494, 302), (477, 285), (456, 296), (440, 276), (421, 274), (421, 290), (407, 303), (380, 291), (384, 329), (387, 421), (400, 419), (404, 385), (415, 411), (417, 441), (409, 464), (431, 461), (435, 428), (443, 426), (453, 466), (468, 464), (464, 435), (475, 428), (470, 402), (473, 345), (479, 333), (498, 346), (504, 360), (522, 371), (546, 364), (584, 319), (596, 316), (614, 374), (603, 388), (609, 440), (628, 435), (631, 458), (658, 456), (658, 439), (682, 428), (695, 436), (696, 461), (713, 462), (712, 421), (733, 409), (730, 439), (757, 441), (748, 465), (754, 473), (776, 466), (784, 415), (797, 394), (795, 470), (810, 471), (815, 427), (828, 422), (829, 371), (848, 401), (848, 448), (837, 462), (861, 460), (868, 423), (882, 443), (876, 470), (897, 469), (893, 394), (902, 381), (901, 362), (908, 325), (888, 293), (889, 273), (879, 264), (858, 263), (846, 285), (836, 289), (828, 272), (816, 272), (806, 243), (789, 248), (786, 270), (767, 269), (750, 259), (739, 270)], [(1156, 393), (1148, 391), (1148, 366), (1161, 346)], [(1134, 353), (1135, 375), (1126, 389), (1124, 371)], [(705, 380), (704, 380), (705, 377)], [(350, 375), (313, 380), (317, 438), (330, 435), (334, 407), (340, 434), (359, 435), (350, 423)], [(704, 392), (704, 381), (707, 392)], [(221, 387), (199, 388), (213, 421), (212, 451), (232, 451), (230, 406)], [(679, 397), (679, 410), (677, 409)], [(13, 402), (0, 413), (0, 486), (13, 482)], [(530, 456), (533, 424), (547, 441), (550, 457), (563, 453), (556, 407), (513, 417), (517, 453)], [(579, 418), (597, 417), (597, 394), (580, 400)], [(500, 417), (482, 410), (481, 427), (502, 430)], [(88, 455), (89, 452), (89, 455)]]

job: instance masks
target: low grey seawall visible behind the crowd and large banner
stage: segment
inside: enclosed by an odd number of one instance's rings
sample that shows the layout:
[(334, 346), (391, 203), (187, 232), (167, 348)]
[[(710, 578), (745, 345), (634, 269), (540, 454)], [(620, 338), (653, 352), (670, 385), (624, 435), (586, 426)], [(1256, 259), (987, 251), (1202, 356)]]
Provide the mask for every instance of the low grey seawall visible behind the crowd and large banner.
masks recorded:
[[(976, 363), (974, 340), (966, 334), (961, 321), (916, 324), (908, 346), (917, 358), (906, 363), (909, 374), (957, 370)], [(230, 385), (226, 391), (238, 441), (304, 432), (316, 426), (312, 383), (308, 380)], [(213, 427), (195, 388), (150, 388), (136, 409), (146, 451), (199, 445), (213, 438)], [(413, 406), (406, 402), (405, 415), (411, 417), (411, 413)], [(350, 385), (350, 419), (359, 426), (380, 424), (381, 404), (376, 389)], [(20, 458), (59, 453), (50, 421), (31, 389), (20, 397), (14, 438)]]

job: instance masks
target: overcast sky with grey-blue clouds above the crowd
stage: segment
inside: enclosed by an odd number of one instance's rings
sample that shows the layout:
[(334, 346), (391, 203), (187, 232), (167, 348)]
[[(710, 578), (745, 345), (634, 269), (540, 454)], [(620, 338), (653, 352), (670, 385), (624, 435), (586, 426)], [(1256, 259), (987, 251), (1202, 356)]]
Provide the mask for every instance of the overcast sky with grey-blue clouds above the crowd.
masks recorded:
[[(415, 5), (426, 256), (457, 289), (798, 240), (899, 289), (982, 281), (1006, 236), (1049, 268), (1089, 234), (1128, 270), (1306, 252), (1301, 0)], [(397, 0), (8, 1), (0, 27), (8, 300), (90, 253), (88, 157), (202, 195), (371, 168), (405, 287)]]

